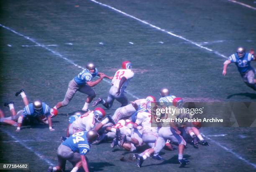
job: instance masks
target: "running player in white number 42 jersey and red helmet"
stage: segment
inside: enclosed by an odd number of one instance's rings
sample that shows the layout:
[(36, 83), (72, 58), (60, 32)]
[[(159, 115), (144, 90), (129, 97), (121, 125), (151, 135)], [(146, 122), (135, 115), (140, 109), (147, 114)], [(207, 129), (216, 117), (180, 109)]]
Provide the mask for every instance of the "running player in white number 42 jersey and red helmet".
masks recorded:
[(111, 82), (112, 87), (109, 90), (107, 101), (102, 99), (102, 97), (99, 97), (95, 102), (93, 102), (92, 106), (96, 106), (101, 103), (109, 109), (112, 107), (115, 99), (121, 103), (121, 107), (126, 106), (128, 104), (128, 99), (124, 94), (125, 88), (134, 76), (131, 67), (132, 66), (130, 61), (122, 62), (122, 69), (119, 69), (117, 72), (115, 72), (115, 76)]

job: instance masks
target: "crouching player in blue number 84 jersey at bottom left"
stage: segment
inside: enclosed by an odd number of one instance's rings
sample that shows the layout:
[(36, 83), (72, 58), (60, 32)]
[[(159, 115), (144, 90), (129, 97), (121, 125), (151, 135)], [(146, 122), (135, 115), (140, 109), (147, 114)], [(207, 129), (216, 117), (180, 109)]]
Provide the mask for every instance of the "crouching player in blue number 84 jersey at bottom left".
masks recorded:
[(71, 172), (77, 172), (83, 167), (85, 172), (89, 172), (88, 160), (85, 155), (90, 151), (91, 142), (96, 140), (98, 133), (94, 130), (85, 132), (77, 132), (58, 147), (58, 165), (49, 167), (48, 172), (65, 171), (66, 162), (69, 161), (73, 165)]

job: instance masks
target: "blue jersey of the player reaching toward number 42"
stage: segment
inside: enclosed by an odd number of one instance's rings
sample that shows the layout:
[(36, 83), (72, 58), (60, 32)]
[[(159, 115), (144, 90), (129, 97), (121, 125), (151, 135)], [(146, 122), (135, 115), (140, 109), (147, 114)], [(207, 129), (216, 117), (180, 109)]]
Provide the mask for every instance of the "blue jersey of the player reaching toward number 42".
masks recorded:
[(86, 82), (89, 82), (92, 80), (93, 77), (96, 77), (98, 75), (98, 70), (95, 68), (94, 73), (90, 73), (87, 69), (80, 72), (76, 77), (74, 77), (75, 82), (77, 82), (77, 85), (85, 85)]

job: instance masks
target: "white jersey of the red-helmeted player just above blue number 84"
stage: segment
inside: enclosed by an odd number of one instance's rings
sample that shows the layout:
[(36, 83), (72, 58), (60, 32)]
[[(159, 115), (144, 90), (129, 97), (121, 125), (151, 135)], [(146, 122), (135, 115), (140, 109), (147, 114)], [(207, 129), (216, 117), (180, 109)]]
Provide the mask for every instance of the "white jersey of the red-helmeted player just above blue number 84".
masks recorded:
[(74, 127), (82, 131), (92, 130), (95, 126), (95, 119), (93, 111), (89, 111), (81, 115), (73, 123)]

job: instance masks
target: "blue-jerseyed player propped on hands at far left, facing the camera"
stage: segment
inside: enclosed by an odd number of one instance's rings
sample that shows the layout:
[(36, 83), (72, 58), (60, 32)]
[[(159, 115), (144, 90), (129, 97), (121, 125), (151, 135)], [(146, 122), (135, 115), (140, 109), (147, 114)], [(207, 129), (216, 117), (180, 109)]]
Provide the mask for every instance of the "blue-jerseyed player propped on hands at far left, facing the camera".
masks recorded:
[[(25, 107), (23, 109), (22, 114), (18, 117), (18, 127), (16, 129), (16, 132), (20, 131), (20, 127), (22, 125), (23, 119), (28, 117), (32, 120), (38, 119), (43, 120), (44, 123), (49, 125), (49, 130), (54, 131), (52, 128), (52, 122), (51, 117), (54, 117), (57, 115), (57, 110), (50, 109), (46, 103), (41, 102), (40, 100), (35, 100), (33, 103), (28, 103), (27, 96), (24, 92), (24, 90), (20, 90), (16, 92), (15, 96), (20, 95), (22, 97), (23, 103), (25, 104)], [(47, 120), (44, 120), (43, 118), (46, 117)]]

